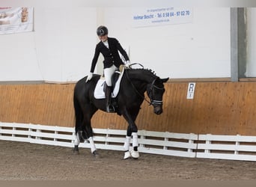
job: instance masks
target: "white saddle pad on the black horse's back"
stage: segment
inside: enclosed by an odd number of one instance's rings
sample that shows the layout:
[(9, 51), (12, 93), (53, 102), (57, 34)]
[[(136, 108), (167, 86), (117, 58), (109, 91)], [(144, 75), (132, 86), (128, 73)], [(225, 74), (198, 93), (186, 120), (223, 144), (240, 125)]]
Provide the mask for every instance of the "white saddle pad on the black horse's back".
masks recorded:
[[(124, 70), (121, 71), (121, 75), (118, 77), (118, 81), (115, 83), (115, 88), (112, 93), (112, 98), (115, 98), (118, 95), (119, 88), (120, 88), (120, 82), (124, 75)], [(104, 99), (106, 98), (105, 92), (103, 91), (104, 85), (105, 85), (105, 78), (100, 78), (97, 82), (97, 85), (94, 90), (94, 97), (96, 99)]]

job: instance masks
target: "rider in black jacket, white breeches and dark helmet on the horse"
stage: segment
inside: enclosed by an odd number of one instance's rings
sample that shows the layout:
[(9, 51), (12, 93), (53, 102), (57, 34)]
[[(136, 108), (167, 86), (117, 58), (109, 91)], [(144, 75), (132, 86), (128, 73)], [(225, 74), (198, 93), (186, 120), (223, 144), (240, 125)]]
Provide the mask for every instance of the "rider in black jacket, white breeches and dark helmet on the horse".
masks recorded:
[(121, 52), (121, 54), (124, 56), (124, 59), (126, 61), (126, 65), (129, 67), (129, 57), (127, 55), (127, 52), (124, 51), (121, 44), (118, 42), (117, 39), (114, 37), (108, 37), (108, 28), (106, 26), (101, 25), (97, 28), (97, 35), (100, 39), (100, 43), (97, 44), (94, 52), (94, 58), (91, 63), (91, 71), (86, 79), (85, 82), (88, 82), (94, 73), (95, 66), (97, 64), (97, 60), (99, 58), (100, 53), (103, 54), (104, 61), (104, 76), (106, 79), (106, 111), (107, 112), (115, 112), (115, 108), (112, 106), (111, 103), (111, 95), (112, 95), (112, 81), (111, 77), (113, 73), (115, 73), (115, 70), (118, 70), (118, 67), (120, 67), (121, 64), (124, 64), (124, 62), (121, 60), (120, 55), (118, 54), (118, 51)]

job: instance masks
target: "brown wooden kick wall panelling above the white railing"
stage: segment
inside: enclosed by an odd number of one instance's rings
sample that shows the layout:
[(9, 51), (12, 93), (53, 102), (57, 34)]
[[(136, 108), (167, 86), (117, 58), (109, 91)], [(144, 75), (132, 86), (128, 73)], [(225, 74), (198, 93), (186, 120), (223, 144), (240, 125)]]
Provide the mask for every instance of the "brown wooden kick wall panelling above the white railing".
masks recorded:
[[(256, 135), (256, 82), (196, 82), (194, 99), (186, 99), (188, 82), (165, 84), (163, 113), (144, 102), (138, 129), (216, 135)], [(0, 85), (0, 121), (74, 126), (74, 84)], [(127, 129), (117, 114), (97, 111), (94, 128)]]

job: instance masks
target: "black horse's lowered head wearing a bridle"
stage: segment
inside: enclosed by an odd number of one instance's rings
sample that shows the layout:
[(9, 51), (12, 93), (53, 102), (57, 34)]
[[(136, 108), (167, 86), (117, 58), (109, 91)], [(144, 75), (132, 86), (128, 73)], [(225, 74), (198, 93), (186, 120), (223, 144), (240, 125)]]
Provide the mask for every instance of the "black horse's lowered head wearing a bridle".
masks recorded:
[(150, 104), (153, 105), (155, 114), (162, 114), (162, 96), (165, 92), (163, 83), (167, 82), (168, 78), (160, 79), (156, 77), (152, 83), (147, 85), (147, 96), (150, 98)]

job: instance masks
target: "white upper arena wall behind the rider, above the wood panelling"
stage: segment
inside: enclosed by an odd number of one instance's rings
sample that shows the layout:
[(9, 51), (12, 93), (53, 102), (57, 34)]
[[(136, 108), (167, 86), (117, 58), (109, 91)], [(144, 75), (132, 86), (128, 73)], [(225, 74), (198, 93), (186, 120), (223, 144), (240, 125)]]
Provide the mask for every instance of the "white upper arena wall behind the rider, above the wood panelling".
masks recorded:
[(33, 32), (0, 35), (0, 81), (76, 82), (90, 70), (98, 25), (159, 76), (230, 77), (230, 7), (189, 10), (188, 23), (134, 27), (132, 7), (35, 7)]

